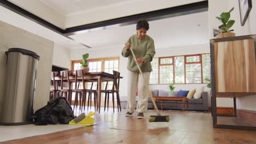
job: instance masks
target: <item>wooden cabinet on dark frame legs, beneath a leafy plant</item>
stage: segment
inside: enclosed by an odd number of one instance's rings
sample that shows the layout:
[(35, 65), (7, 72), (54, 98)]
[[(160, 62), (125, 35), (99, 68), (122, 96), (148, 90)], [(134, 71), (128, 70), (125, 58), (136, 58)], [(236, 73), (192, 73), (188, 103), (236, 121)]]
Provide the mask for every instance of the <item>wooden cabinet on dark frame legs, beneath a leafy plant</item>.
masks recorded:
[[(214, 127), (223, 128), (223, 124), (220, 125), (217, 122), (216, 98), (234, 98), (235, 110), (232, 116), (236, 117), (235, 98), (256, 94), (255, 39), (256, 35), (244, 35), (210, 40), (211, 95)], [(235, 126), (235, 128), (238, 127), (242, 126)], [(230, 128), (230, 125), (228, 125), (228, 128)]]

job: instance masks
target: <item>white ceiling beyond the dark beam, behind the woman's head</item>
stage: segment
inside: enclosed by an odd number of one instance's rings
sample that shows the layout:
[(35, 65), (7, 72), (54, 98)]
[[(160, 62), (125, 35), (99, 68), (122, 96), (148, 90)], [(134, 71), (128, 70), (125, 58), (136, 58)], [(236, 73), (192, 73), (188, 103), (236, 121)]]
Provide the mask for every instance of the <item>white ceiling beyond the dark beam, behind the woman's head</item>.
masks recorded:
[[(171, 17), (149, 22), (148, 35), (156, 49), (209, 43), (208, 12)], [(136, 25), (108, 28), (101, 31), (70, 35), (93, 48), (120, 45), (136, 34)]]

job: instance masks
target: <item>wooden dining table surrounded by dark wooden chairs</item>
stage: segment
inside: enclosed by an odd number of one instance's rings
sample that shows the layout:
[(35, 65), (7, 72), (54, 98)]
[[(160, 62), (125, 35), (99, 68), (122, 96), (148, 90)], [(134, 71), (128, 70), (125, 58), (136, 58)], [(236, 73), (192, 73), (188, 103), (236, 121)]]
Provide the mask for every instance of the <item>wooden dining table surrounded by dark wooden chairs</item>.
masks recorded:
[[(78, 80), (81, 80), (82, 81), (82, 76), (78, 76), (77, 77)], [(120, 79), (123, 79), (123, 77), (120, 76)], [(61, 80), (61, 75), (57, 75), (55, 77), (55, 81), (60, 81)], [(67, 77), (66, 79), (63, 79), (63, 80), (67, 80)], [(69, 76), (69, 80), (73, 81), (75, 80), (75, 74), (71, 74)], [(100, 113), (101, 111), (101, 89), (102, 89), (102, 82), (104, 81), (114, 81), (114, 75), (113, 74), (109, 74), (109, 73), (106, 73), (104, 71), (101, 71), (101, 72), (92, 72), (92, 73), (86, 73), (84, 75), (84, 80), (86, 82), (90, 82), (90, 81), (97, 81), (98, 82), (98, 107), (97, 107), (97, 111), (98, 113)]]

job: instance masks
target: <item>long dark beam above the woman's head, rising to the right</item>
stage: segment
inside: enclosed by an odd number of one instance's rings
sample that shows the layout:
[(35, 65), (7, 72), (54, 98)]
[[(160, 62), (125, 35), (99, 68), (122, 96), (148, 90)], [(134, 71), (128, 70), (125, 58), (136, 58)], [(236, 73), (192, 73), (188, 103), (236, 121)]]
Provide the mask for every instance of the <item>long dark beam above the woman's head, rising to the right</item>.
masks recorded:
[(135, 24), (139, 19), (154, 21), (154, 20), (167, 19), (175, 16), (200, 13), (203, 11), (208, 11), (208, 1), (185, 4), (177, 7), (149, 11), (147, 13), (124, 16), (117, 19), (111, 19), (111, 20), (106, 20), (101, 22), (90, 23), (82, 26), (71, 27), (63, 31), (63, 33), (67, 35), (74, 35), (78, 33), (88, 32), (88, 30), (92, 28), (106, 29), (108, 28), (108, 26), (119, 27), (119, 26), (132, 25), (132, 24)]

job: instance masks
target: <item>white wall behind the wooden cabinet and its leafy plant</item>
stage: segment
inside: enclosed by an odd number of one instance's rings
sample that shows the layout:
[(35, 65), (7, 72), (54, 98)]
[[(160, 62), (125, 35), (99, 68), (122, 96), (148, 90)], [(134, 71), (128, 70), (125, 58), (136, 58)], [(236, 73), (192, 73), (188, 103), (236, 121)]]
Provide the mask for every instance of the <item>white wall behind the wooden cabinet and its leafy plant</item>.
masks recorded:
[[(236, 35), (248, 35), (248, 34), (256, 34), (256, 1), (252, 0), (252, 10), (249, 13), (249, 16), (247, 18), (247, 21), (245, 23), (245, 26), (241, 26), (240, 22), (240, 12), (239, 12), (239, 4), (238, 1), (234, 0), (209, 0), (209, 21), (210, 21), (210, 33), (211, 37), (213, 38), (213, 28), (217, 28), (220, 25), (220, 21), (217, 20), (215, 17), (219, 16), (222, 12), (229, 11), (232, 7), (234, 7), (234, 10), (231, 12), (230, 19), (235, 20), (234, 26), (231, 28), (234, 29), (234, 32)], [(238, 109), (246, 109), (246, 110), (256, 110), (255, 106), (256, 101), (256, 95), (246, 96), (238, 98), (237, 108)], [(226, 107), (232, 107), (232, 99), (229, 98), (218, 98), (217, 99), (217, 106), (226, 106)]]

